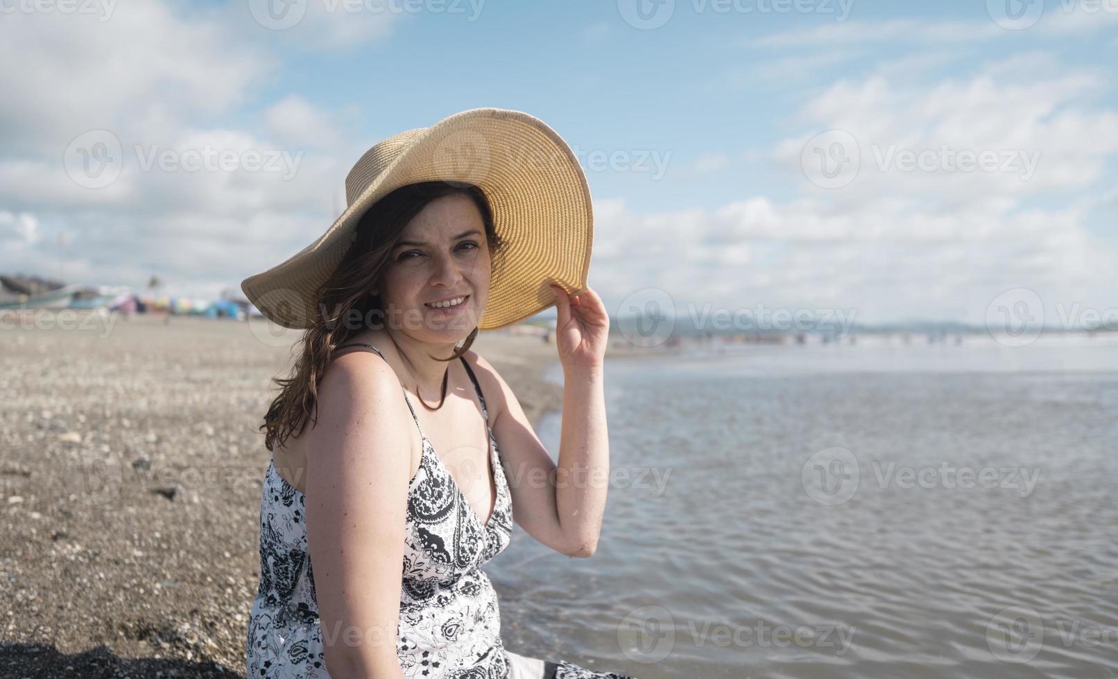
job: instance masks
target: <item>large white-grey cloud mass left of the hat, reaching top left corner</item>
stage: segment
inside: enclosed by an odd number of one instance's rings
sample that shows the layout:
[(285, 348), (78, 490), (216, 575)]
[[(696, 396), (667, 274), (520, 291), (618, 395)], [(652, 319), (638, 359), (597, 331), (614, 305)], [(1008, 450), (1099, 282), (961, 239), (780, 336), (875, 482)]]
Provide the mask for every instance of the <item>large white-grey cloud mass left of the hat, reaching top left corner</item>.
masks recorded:
[[(244, 3), (120, 3), (107, 21), (4, 15), (0, 59), (20, 67), (0, 70), (0, 271), (108, 285), (159, 272), (216, 295), (321, 235), (367, 147), (352, 142), (356, 112), (288, 96), (252, 130), (208, 122), (231, 117), (280, 65), (250, 21)], [(59, 160), (96, 128), (123, 159), (115, 181), (91, 189)], [(190, 164), (221, 153), (231, 168)]]

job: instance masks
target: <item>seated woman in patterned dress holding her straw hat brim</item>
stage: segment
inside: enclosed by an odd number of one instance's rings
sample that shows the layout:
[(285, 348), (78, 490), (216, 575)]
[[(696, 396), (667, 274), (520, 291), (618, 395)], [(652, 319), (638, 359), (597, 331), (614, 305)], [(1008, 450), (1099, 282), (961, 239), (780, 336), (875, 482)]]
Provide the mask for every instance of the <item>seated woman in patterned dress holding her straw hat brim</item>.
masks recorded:
[[(527, 114), (473, 109), (373, 146), (347, 195), (323, 237), (241, 286), (273, 321), (306, 328), (262, 427), (273, 460), (248, 676), (629, 679), (504, 649), (480, 567), (513, 519), (569, 556), (598, 538), (606, 488), (580, 479), (608, 472), (609, 321), (585, 285), (593, 228), (574, 154)], [(551, 304), (558, 468), (468, 351), (480, 329)]]

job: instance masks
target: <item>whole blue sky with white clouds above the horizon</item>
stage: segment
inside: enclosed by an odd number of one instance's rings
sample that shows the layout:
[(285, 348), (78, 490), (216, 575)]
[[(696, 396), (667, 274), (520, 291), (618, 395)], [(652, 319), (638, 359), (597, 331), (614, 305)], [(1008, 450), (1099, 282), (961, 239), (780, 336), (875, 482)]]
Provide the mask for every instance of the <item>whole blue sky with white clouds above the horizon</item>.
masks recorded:
[[(1118, 0), (662, 0), (644, 6), (654, 28), (629, 0), (338, 2), (295, 0), (284, 30), (255, 0), (13, 4), (0, 57), (26, 67), (0, 75), (0, 271), (216, 295), (321, 233), (378, 140), (496, 106), (585, 159), (590, 284), (613, 309), (648, 289), (864, 323), (982, 322), (1007, 290), (1050, 318), (1118, 308)], [(98, 130), (299, 165), (125, 160), (111, 185), (78, 185), (63, 159)], [(851, 153), (852, 174), (812, 170)]]

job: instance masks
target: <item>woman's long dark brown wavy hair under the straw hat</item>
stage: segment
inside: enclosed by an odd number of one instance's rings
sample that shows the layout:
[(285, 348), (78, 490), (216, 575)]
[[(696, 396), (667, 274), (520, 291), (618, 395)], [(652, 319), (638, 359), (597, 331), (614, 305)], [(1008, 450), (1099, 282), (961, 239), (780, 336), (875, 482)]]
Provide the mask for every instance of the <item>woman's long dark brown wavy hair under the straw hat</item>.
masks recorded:
[[(496, 233), (493, 226), (493, 209), (485, 193), (473, 184), (463, 182), (421, 182), (408, 184), (392, 191), (377, 201), (357, 224), (357, 240), (350, 246), (338, 268), (319, 288), (312, 326), (306, 328), (301, 340), (302, 352), (291, 370), (290, 377), (275, 377), (280, 394), (272, 401), (264, 423), (264, 446), (273, 450), (283, 446), (287, 437), (302, 436), (310, 421), (318, 423), (315, 404), (319, 383), (334, 350), (344, 344), (351, 335), (366, 329), (369, 319), (376, 317), (382, 323), (385, 309), (380, 295), (370, 290), (378, 287), (381, 275), (389, 266), (389, 256), (396, 241), (400, 239), (408, 222), (427, 203), (445, 195), (466, 195), (474, 201), (485, 223), (485, 239), (492, 262), (493, 279), (501, 275), (501, 264), (508, 243)], [(358, 319), (357, 323), (353, 319)], [(477, 327), (466, 336), (462, 347), (449, 358), (430, 356), (437, 361), (454, 361), (470, 350), (477, 336)], [(443, 388), (438, 405), (428, 407), (423, 399), (419, 403), (434, 411), (446, 400), (446, 384), (449, 372), (443, 373)], [(416, 390), (418, 394), (418, 389)]]

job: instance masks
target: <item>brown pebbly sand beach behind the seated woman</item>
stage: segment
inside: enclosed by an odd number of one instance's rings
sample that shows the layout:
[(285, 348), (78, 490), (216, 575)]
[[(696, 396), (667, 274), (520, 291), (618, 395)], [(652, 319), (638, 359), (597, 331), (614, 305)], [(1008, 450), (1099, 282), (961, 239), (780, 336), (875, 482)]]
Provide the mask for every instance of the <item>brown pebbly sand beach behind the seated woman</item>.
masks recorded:
[[(0, 676), (243, 677), (259, 578), (257, 431), (290, 340), (161, 316), (0, 332)], [(533, 422), (538, 337), (473, 347)]]

